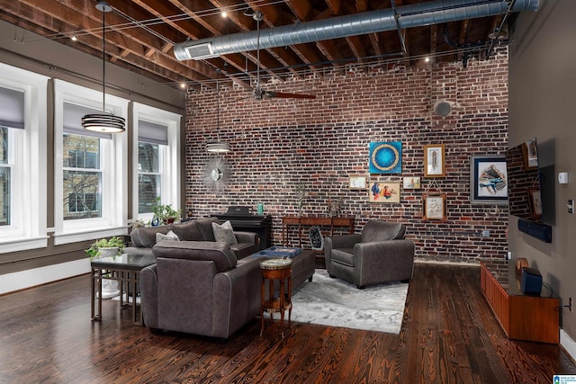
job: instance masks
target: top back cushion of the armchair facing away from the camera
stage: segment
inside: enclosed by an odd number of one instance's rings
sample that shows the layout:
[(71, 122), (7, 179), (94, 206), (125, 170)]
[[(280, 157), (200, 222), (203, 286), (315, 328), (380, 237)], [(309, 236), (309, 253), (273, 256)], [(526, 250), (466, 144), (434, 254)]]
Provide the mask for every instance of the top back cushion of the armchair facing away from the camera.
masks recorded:
[(166, 259), (205, 260), (214, 262), (218, 272), (229, 271), (238, 259), (228, 244), (214, 241), (161, 241), (152, 253)]

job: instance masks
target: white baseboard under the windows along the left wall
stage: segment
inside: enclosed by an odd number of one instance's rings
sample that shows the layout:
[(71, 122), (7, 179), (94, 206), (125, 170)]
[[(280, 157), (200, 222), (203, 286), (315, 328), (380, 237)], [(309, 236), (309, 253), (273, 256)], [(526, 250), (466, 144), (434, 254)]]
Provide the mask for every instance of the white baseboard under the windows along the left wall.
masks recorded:
[(68, 263), (59, 263), (27, 271), (6, 273), (0, 277), (0, 295), (24, 290), (37, 285), (46, 284), (51, 281), (67, 279), (90, 272), (90, 259), (75, 260)]

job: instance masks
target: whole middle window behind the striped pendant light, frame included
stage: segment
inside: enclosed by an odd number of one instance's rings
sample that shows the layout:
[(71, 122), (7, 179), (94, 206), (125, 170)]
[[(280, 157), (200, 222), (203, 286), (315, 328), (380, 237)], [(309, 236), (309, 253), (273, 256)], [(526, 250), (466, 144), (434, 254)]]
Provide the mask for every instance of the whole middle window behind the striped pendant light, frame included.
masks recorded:
[[(83, 129), (102, 112), (102, 94), (54, 81), (54, 220), (56, 245), (126, 233), (127, 133)], [(106, 112), (126, 117), (128, 101), (106, 95)]]

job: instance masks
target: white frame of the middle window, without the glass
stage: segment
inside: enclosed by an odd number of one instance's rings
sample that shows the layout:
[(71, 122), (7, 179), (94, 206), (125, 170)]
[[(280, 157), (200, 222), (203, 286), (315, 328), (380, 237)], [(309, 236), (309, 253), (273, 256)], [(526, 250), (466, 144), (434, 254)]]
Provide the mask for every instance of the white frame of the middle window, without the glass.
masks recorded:
[[(105, 109), (127, 118), (129, 101), (106, 94)], [(64, 220), (63, 125), (64, 103), (102, 110), (102, 93), (62, 80), (54, 80), (54, 244), (68, 244), (128, 233), (128, 138), (127, 133), (101, 139), (103, 164), (102, 217)]]

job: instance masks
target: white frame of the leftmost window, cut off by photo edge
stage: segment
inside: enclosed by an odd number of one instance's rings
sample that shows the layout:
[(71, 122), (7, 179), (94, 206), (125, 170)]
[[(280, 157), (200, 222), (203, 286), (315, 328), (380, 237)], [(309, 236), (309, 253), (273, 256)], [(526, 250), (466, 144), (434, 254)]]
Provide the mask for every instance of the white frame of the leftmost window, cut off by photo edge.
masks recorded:
[(48, 246), (48, 76), (0, 63), (0, 85), (24, 91), (24, 129), (14, 129), (11, 151), (11, 225), (0, 228), (0, 254)]

